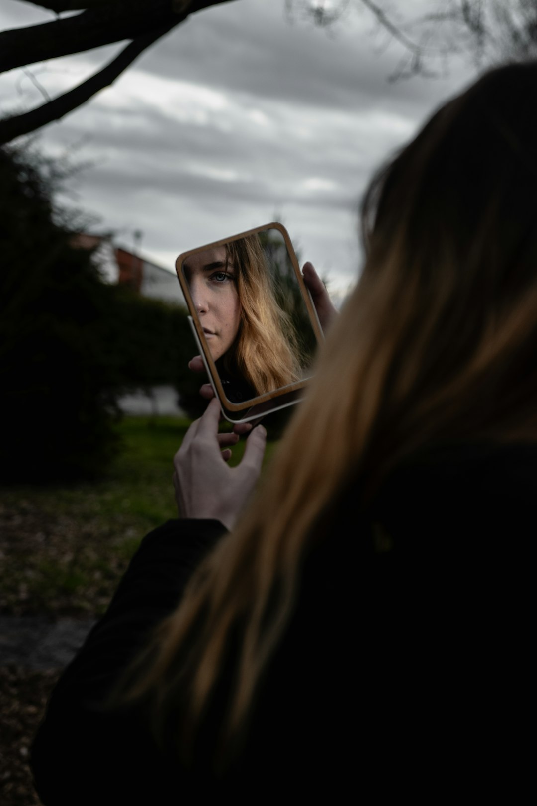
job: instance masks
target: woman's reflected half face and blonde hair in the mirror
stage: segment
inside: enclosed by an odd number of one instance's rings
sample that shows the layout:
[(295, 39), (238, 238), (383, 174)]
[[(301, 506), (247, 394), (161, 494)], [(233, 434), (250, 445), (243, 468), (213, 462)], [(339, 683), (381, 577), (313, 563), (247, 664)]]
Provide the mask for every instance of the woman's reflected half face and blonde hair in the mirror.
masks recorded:
[(233, 402), (301, 380), (302, 356), (291, 317), (257, 234), (188, 256), (192, 301)]

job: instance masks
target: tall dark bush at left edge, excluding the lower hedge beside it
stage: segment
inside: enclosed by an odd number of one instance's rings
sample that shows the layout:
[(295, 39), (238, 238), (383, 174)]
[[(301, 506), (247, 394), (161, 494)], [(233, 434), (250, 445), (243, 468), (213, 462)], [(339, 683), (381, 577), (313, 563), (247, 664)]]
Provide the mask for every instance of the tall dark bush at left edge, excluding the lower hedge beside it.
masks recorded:
[(114, 451), (109, 295), (51, 195), (43, 166), (0, 151), (4, 482), (94, 476)]

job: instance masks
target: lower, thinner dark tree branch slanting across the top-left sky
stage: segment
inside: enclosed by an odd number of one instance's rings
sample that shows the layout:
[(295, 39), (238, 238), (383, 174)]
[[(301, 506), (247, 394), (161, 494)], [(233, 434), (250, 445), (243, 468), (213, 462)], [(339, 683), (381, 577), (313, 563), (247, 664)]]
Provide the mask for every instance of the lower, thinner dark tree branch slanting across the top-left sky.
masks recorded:
[(60, 120), (68, 112), (82, 106), (89, 98), (92, 98), (100, 89), (109, 86), (112, 82), (129, 67), (130, 64), (151, 44), (156, 42), (161, 36), (171, 31), (178, 23), (172, 23), (167, 27), (152, 31), (151, 34), (139, 36), (126, 46), (114, 60), (109, 62), (99, 73), (95, 73), (87, 81), (83, 81), (74, 89), (54, 98), (53, 101), (38, 106), (30, 112), (14, 115), (11, 118), (0, 120), (0, 145), (9, 143), (10, 140), (21, 135), (27, 135), (30, 131), (35, 131), (47, 123)]

